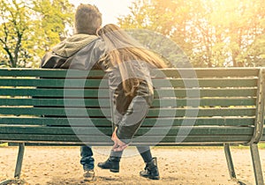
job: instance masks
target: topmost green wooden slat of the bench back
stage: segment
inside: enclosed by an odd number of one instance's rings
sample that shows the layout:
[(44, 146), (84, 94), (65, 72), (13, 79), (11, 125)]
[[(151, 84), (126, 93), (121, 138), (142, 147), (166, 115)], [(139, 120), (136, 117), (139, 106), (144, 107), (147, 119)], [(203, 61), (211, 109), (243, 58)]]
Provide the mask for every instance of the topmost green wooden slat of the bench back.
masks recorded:
[[(164, 69), (152, 71), (152, 75), (156, 77), (175, 77), (181, 78), (181, 74), (193, 73), (197, 78), (212, 78), (212, 77), (258, 77), (259, 68), (193, 68), (193, 69)], [(162, 74), (163, 73), (163, 74)], [(64, 78), (68, 77), (87, 77), (87, 70), (50, 70), (50, 69), (0, 69), (2, 77), (46, 77), (46, 78)], [(101, 70), (91, 70), (90, 76), (104, 76)], [(182, 75), (183, 76), (183, 75)], [(186, 75), (187, 76), (187, 75)]]

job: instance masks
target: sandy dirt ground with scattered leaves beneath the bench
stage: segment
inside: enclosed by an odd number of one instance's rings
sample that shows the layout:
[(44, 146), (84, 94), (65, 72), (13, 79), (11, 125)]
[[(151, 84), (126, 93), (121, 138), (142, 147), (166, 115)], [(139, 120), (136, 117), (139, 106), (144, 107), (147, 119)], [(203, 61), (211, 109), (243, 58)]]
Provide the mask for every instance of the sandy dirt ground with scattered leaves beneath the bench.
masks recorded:
[[(95, 166), (108, 158), (110, 147), (94, 147)], [(134, 147), (129, 147), (120, 163), (118, 174), (95, 167), (96, 181), (82, 178), (79, 164), (79, 147), (27, 146), (21, 179), (27, 184), (167, 184), (167, 185), (232, 185), (222, 147), (155, 147), (153, 156), (158, 159), (161, 180), (140, 177), (145, 165)], [(254, 184), (254, 172), (249, 150), (232, 148), (237, 177)], [(13, 177), (18, 147), (0, 147), (0, 181)], [(261, 166), (265, 174), (265, 150), (260, 150)]]

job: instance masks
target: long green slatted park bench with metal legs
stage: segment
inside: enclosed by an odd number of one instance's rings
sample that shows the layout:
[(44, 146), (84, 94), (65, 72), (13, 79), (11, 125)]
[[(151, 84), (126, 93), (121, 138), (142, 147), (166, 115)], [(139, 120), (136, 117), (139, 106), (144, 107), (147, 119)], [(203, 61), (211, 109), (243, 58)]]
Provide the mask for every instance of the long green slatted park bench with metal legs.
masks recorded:
[[(0, 142), (112, 145), (108, 79), (100, 70), (0, 69)], [(257, 144), (265, 140), (264, 68), (152, 71), (155, 100), (133, 144), (249, 145), (255, 183), (263, 185)], [(238, 180), (237, 180), (238, 181)], [(243, 182), (240, 182), (243, 184)]]

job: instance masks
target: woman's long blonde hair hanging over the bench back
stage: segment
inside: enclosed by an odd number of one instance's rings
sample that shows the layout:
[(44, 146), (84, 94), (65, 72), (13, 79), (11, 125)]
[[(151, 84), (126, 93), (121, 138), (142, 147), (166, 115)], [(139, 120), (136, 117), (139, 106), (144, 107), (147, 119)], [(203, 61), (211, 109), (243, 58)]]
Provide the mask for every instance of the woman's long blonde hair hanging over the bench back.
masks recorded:
[(137, 76), (137, 71), (133, 70), (135, 69), (133, 63), (148, 63), (153, 68), (167, 67), (161, 57), (140, 46), (137, 41), (116, 25), (103, 26), (98, 31), (98, 35), (105, 41), (109, 50), (107, 56), (110, 63), (119, 68), (125, 95), (133, 96), (142, 80)]

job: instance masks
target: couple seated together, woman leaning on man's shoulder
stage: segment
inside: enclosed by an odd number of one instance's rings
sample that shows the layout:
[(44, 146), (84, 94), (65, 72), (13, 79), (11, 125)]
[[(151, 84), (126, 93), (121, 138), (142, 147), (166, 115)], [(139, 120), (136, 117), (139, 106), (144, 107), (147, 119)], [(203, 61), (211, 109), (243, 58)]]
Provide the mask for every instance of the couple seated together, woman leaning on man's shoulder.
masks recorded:
[[(140, 124), (148, 113), (153, 100), (153, 86), (149, 68), (166, 67), (163, 60), (140, 48), (136, 41), (115, 25), (101, 28), (102, 14), (90, 4), (80, 4), (75, 13), (75, 34), (57, 44), (42, 58), (42, 68), (77, 70), (100, 69), (109, 77), (114, 145), (110, 157), (98, 163), (102, 169), (119, 172), (119, 161)], [(158, 180), (156, 159), (148, 146), (137, 146), (146, 167), (140, 175)], [(86, 181), (95, 178), (92, 148), (81, 146), (80, 163)]]

